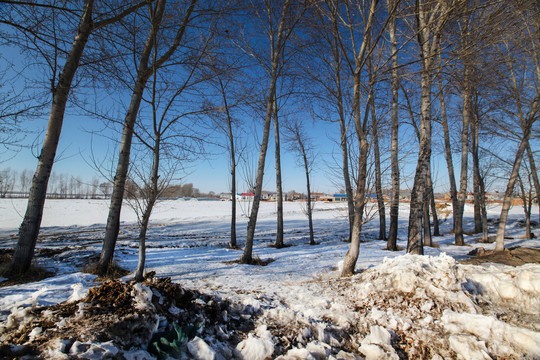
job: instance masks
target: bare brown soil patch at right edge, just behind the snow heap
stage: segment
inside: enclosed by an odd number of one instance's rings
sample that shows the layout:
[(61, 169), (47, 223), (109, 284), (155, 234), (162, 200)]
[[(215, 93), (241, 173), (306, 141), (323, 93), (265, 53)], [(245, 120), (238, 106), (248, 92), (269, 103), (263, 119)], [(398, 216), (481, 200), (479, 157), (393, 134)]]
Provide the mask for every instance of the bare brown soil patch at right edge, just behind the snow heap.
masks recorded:
[(486, 262), (494, 262), (510, 266), (521, 266), (529, 263), (540, 264), (540, 249), (535, 248), (516, 246), (500, 252), (477, 248), (471, 251), (469, 255), (473, 255), (474, 257), (460, 261), (460, 263), (478, 265)]

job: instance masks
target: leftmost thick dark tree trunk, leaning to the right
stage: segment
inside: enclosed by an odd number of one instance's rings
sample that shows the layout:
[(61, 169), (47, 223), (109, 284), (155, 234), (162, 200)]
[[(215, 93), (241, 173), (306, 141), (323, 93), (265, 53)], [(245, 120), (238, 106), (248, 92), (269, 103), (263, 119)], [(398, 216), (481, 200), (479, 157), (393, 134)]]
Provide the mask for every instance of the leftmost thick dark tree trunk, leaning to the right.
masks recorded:
[(92, 32), (93, 0), (86, 0), (79, 22), (77, 35), (71, 45), (58, 84), (53, 90), (53, 102), (49, 113), (49, 123), (43, 147), (39, 155), (36, 172), (32, 178), (28, 206), (19, 228), (19, 239), (10, 266), (10, 273), (18, 275), (28, 271), (34, 256), (34, 249), (41, 226), (43, 207), (47, 194), (47, 185), (51, 176), (56, 150), (60, 140), (66, 103), (69, 98), (73, 77), (79, 67), (81, 56)]

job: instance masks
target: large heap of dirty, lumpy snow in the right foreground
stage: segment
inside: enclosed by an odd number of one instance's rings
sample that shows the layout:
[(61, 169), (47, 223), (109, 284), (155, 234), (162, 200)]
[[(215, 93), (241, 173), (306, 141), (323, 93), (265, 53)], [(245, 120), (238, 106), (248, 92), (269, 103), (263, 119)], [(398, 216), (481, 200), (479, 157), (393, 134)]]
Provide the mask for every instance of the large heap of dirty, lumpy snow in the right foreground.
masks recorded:
[[(459, 265), (445, 254), (405, 255), (366, 270), (344, 294), (361, 309), (357, 343), (366, 358), (394, 358), (392, 334), (394, 347), (413, 357), (537, 358), (540, 333), (531, 328), (540, 319), (538, 274), (538, 264)], [(514, 321), (520, 311), (535, 315), (533, 323)]]

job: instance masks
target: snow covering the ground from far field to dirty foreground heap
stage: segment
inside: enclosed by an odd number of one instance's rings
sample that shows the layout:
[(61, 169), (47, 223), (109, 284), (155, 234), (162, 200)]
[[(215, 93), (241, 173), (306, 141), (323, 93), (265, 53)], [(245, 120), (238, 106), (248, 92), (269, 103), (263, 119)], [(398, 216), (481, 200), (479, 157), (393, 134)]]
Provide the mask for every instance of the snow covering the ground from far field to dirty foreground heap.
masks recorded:
[[(0, 199), (0, 247), (14, 246), (25, 206), (24, 200)], [(14, 321), (31, 306), (80, 299), (96, 286), (94, 276), (80, 269), (101, 249), (107, 207), (103, 200), (47, 201), (37, 249), (61, 251), (37, 257), (36, 262), (57, 275), (1, 287), (1, 321)], [(243, 204), (238, 211), (240, 246), (248, 210)], [(537, 220), (538, 208), (533, 211)], [(226, 248), (229, 202), (167, 200), (155, 209), (147, 270), (171, 277), (183, 288), (249, 306), (258, 314), (255, 328), (236, 348), (227, 350), (216, 345), (216, 339), (197, 337), (187, 347), (186, 358), (540, 358), (540, 265), (456, 263), (475, 247), (491, 249), (494, 244), (477, 243), (478, 235), (471, 235), (466, 236), (467, 246), (452, 245), (451, 215), (442, 223), (444, 235), (434, 238), (438, 247), (425, 248), (428, 256), (423, 257), (385, 251), (385, 242), (376, 240), (375, 218), (364, 226), (359, 274), (340, 279), (340, 262), (348, 249), (346, 205), (316, 205), (316, 246), (307, 244), (302, 204), (285, 203), (285, 243), (291, 246), (269, 247), (275, 240), (275, 212), (274, 203), (262, 203), (254, 255), (274, 261), (261, 267), (230, 262), (241, 251)], [(488, 216), (496, 219), (499, 213), (499, 207), (492, 207)], [(507, 230), (512, 239), (506, 246), (540, 248), (539, 240), (523, 239), (518, 221), (522, 218), (522, 209), (514, 207)], [(407, 219), (403, 204), (398, 234), (402, 248)], [(469, 205), (465, 227), (473, 228)], [(537, 228), (533, 232), (540, 235)], [(115, 257), (128, 270), (136, 268), (137, 234), (136, 216), (124, 207)], [(136, 354), (131, 358), (150, 358), (144, 351)]]

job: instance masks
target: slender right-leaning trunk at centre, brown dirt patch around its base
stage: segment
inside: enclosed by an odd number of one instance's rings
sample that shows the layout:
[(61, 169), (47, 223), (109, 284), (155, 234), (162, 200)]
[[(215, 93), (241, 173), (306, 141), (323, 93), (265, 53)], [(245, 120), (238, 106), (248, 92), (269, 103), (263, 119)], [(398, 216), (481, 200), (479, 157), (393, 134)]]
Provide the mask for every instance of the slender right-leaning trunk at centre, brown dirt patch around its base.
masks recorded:
[(247, 226), (246, 245), (244, 247), (244, 253), (240, 258), (240, 263), (251, 264), (253, 253), (253, 240), (255, 238), (255, 226), (257, 225), (257, 215), (259, 213), (259, 205), (261, 202), (263, 177), (264, 177), (264, 164), (266, 161), (266, 151), (268, 149), (268, 138), (270, 135), (270, 123), (272, 122), (272, 112), (274, 105), (274, 97), (276, 94), (276, 82), (278, 78), (278, 64), (280, 59), (281, 50), (283, 48), (285, 39), (283, 37), (286, 16), (288, 13), (290, 1), (286, 0), (283, 4), (281, 12), (281, 18), (278, 27), (278, 37), (276, 44), (273, 41), (273, 35), (271, 35), (271, 60), (272, 68), (270, 72), (270, 89), (268, 90), (268, 99), (266, 101), (266, 115), (264, 120), (263, 139), (261, 143), (261, 151), (259, 153), (259, 162), (257, 166), (257, 179), (255, 181), (255, 198), (253, 199), (253, 205), (251, 207), (251, 213), (249, 215), (249, 221)]

